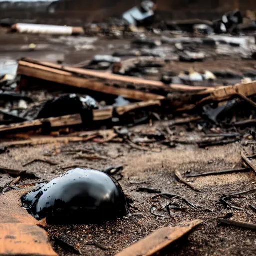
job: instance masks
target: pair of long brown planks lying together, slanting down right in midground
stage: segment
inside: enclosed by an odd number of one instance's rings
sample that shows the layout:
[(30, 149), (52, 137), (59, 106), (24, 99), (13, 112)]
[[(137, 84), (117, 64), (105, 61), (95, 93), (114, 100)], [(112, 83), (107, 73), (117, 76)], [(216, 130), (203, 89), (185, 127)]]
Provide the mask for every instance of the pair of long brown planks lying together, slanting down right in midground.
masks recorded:
[[(159, 91), (171, 92), (201, 92), (210, 93), (212, 87), (189, 86), (182, 84), (166, 85), (160, 81), (146, 80), (137, 77), (117, 75), (108, 72), (62, 66), (50, 62), (40, 62), (31, 59), (19, 61), (17, 74), (27, 77), (39, 78), (59, 84), (85, 88), (113, 95), (121, 95), (135, 100), (163, 99), (164, 96), (144, 92), (150, 88)], [(117, 85), (117, 87), (116, 87)], [(21, 87), (22, 78), (21, 78)], [(124, 87), (123, 87), (124, 86)], [(132, 88), (132, 89), (130, 89)], [(143, 91), (142, 91), (143, 90)]]

